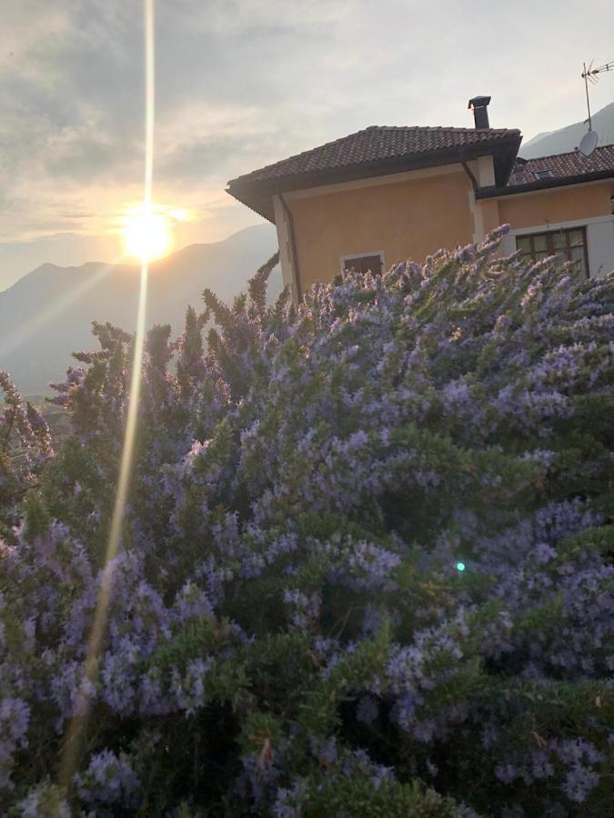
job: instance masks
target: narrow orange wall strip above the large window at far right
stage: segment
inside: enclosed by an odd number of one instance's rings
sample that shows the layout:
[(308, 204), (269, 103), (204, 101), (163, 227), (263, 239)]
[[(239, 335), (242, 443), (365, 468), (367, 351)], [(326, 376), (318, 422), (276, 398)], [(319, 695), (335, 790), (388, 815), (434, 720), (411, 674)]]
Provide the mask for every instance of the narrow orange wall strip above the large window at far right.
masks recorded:
[(609, 182), (574, 185), (498, 200), (500, 224), (512, 229), (590, 219), (611, 212)]

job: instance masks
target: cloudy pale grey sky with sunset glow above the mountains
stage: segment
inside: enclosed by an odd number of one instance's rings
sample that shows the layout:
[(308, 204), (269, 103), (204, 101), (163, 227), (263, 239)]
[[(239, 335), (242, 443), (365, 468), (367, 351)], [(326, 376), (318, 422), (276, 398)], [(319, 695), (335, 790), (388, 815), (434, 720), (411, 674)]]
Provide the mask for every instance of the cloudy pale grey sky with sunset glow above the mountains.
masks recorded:
[[(143, 190), (141, 0), (1, 0), (0, 290), (45, 262), (113, 261)], [(260, 218), (228, 179), (367, 125), (586, 117), (582, 62), (614, 59), (591, 0), (157, 0), (154, 198), (175, 246)], [(614, 100), (614, 74), (591, 88)]]

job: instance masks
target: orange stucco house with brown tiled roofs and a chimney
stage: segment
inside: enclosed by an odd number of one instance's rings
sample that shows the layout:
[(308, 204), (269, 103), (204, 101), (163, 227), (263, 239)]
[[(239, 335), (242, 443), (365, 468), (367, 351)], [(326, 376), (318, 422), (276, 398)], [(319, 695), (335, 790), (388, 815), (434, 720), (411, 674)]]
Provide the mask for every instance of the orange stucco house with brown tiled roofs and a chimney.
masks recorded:
[(559, 254), (586, 275), (614, 268), (614, 145), (522, 160), (520, 132), (489, 127), (489, 102), (469, 101), (475, 128), (367, 127), (227, 191), (277, 225), (295, 299), (344, 268), (423, 260), (506, 223), (506, 254)]

